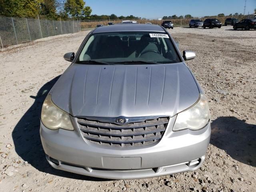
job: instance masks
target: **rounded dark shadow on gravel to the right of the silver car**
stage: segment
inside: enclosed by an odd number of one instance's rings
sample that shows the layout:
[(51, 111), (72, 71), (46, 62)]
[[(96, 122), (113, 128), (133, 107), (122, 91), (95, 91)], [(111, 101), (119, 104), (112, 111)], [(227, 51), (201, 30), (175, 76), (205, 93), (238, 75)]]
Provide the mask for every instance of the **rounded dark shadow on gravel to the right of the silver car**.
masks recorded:
[(211, 123), (210, 143), (233, 159), (256, 166), (256, 125), (233, 117), (218, 117)]

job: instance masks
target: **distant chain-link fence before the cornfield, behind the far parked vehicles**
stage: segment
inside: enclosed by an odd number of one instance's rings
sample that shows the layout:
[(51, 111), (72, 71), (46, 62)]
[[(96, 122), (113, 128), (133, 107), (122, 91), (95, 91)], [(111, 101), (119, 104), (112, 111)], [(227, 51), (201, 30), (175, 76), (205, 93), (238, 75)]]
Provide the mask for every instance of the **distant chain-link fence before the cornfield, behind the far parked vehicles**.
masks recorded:
[[(174, 26), (188, 26), (189, 21), (191, 19), (200, 19), (204, 21), (207, 18), (217, 18), (224, 24), (226, 18), (238, 18), (239, 20), (246, 19), (246, 18), (253, 18), (253, 15), (228, 15), (228, 16), (198, 16), (198, 17), (166, 17), (166, 18), (141, 18), (141, 19), (123, 19), (123, 20), (135, 20), (140, 24), (145, 23), (152, 23), (156, 25), (162, 24), (164, 20), (170, 20), (174, 24)], [(101, 25), (108, 25), (108, 23), (121, 23), (122, 19), (115, 19), (115, 20), (82, 20), (80, 21), (81, 29), (91, 29), (96, 28), (98, 24)]]

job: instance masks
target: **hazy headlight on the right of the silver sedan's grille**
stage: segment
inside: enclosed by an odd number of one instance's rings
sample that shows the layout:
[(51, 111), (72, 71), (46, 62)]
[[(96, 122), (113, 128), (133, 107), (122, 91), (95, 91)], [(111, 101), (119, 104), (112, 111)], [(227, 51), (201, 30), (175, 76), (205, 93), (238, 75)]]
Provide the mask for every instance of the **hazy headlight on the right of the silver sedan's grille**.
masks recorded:
[(210, 120), (210, 111), (206, 97), (200, 94), (200, 98), (191, 108), (180, 112), (173, 127), (173, 131), (182, 129), (199, 130), (206, 126)]

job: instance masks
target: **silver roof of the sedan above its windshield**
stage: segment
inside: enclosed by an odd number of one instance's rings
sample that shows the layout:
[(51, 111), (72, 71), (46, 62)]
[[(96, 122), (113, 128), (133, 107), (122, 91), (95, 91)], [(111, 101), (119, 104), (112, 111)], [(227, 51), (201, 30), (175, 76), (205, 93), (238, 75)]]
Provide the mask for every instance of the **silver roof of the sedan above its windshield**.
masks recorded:
[(96, 28), (92, 31), (94, 33), (104, 32), (120, 32), (120, 31), (154, 31), (154, 32), (165, 32), (165, 30), (159, 25), (148, 25), (148, 24), (125, 24), (125, 25), (110, 25)]

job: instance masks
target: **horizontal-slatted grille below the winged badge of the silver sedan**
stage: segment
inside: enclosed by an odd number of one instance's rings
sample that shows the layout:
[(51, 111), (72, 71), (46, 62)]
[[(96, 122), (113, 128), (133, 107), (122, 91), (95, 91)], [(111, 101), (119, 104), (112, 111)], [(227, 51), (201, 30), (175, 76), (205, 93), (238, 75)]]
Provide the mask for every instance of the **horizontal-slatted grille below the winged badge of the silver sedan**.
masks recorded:
[(82, 136), (92, 143), (115, 146), (143, 146), (159, 141), (169, 117), (157, 117), (118, 125), (89, 118), (76, 118)]

